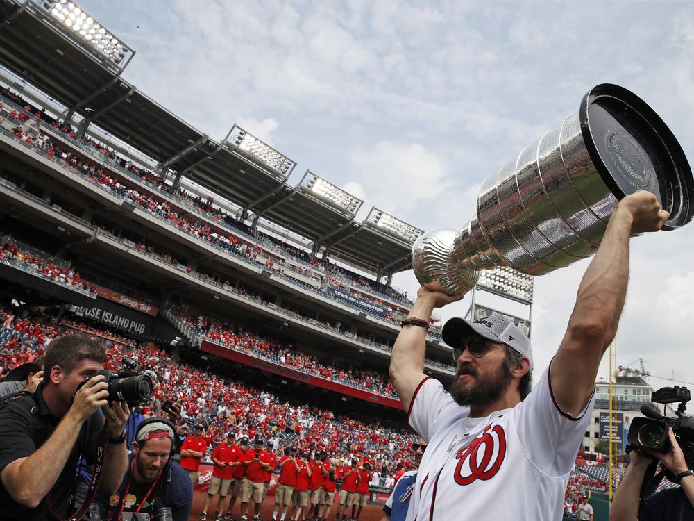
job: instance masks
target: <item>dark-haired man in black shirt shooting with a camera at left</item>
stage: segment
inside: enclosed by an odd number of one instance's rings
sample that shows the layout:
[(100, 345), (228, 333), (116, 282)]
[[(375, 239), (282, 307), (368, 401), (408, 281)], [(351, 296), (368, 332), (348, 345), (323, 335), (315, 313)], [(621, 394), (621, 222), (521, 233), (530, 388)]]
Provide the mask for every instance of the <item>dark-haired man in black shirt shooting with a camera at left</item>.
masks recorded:
[(56, 338), (46, 349), (46, 376), (37, 391), (0, 410), (0, 512), (7, 518), (67, 518), (81, 456), (100, 463), (101, 490), (118, 488), (128, 465), (130, 411), (125, 403), (109, 404), (109, 386), (97, 374), (105, 361), (103, 347), (86, 336)]

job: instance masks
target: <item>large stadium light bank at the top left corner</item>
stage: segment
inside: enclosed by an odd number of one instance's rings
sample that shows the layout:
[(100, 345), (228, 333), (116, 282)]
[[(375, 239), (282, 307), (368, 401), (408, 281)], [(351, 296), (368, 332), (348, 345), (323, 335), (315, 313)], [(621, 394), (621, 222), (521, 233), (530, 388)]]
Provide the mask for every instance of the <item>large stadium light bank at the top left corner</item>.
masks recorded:
[(107, 58), (114, 65), (125, 67), (126, 58), (131, 58), (134, 51), (116, 38), (99, 22), (69, 0), (33, 0), (49, 21), (78, 42), (86, 44), (91, 51)]

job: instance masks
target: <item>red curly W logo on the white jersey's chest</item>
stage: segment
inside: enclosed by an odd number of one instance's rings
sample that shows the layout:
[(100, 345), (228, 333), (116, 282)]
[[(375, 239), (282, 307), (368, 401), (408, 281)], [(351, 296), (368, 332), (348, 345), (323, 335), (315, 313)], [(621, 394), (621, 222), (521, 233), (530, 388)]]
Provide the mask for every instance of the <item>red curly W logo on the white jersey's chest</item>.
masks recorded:
[(499, 472), (505, 456), (504, 428), (500, 425), (487, 425), (482, 436), (472, 440), (470, 445), (460, 449), (456, 454), (455, 458), (459, 461), (455, 466), (453, 478), (459, 485), (469, 485), (477, 479), (491, 479)]

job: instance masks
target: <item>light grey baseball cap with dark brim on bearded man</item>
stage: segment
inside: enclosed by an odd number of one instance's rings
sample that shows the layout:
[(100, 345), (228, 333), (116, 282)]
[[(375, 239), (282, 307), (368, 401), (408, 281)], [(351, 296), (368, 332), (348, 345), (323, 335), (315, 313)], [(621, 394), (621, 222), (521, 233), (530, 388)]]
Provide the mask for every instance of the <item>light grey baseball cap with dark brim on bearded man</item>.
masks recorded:
[(473, 334), (513, 347), (517, 352), (530, 360), (530, 370), (532, 370), (530, 338), (527, 338), (525, 333), (512, 320), (492, 315), (491, 317), (484, 317), (470, 322), (469, 320), (455, 317), (443, 324), (443, 330), (441, 331), (443, 342), (446, 342), (453, 349), (460, 345), (460, 341), (463, 338)]

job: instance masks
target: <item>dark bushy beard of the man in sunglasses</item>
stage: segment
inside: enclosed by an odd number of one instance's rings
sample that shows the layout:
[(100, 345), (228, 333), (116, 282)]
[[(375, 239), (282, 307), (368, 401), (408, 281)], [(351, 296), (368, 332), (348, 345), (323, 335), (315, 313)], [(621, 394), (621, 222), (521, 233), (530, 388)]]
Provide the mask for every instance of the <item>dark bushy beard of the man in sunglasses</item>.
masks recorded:
[[(460, 381), (461, 374), (471, 374), (475, 377), (473, 386), (465, 387), (465, 381)], [(471, 363), (462, 364), (455, 372), (455, 380), (450, 386), (450, 395), (458, 405), (473, 406), (487, 405), (496, 402), (509, 388), (513, 377), (507, 359), (491, 374), (480, 377), (480, 373)]]

